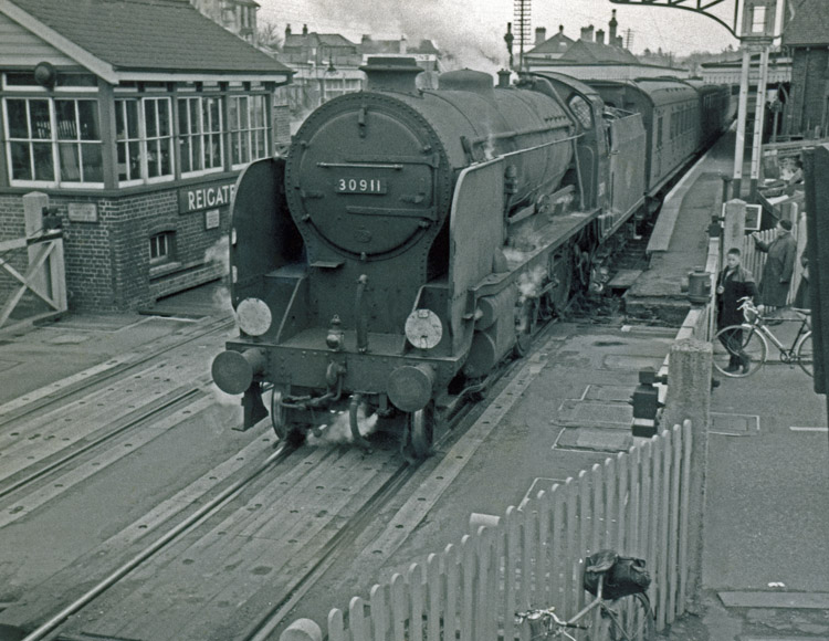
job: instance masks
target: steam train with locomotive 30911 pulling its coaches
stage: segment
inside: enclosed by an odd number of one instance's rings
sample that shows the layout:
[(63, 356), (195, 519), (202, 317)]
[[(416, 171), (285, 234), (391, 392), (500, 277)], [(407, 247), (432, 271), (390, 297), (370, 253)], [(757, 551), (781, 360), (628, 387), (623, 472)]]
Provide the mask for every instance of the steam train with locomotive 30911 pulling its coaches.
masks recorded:
[[(728, 93), (684, 81), (475, 71), (417, 87), (372, 59), (367, 90), (323, 104), (286, 158), (240, 176), (231, 297), (212, 364), (244, 428), (282, 439), (376, 413), (422, 458), (465, 395), (526, 349), (723, 128)], [(618, 232), (618, 233), (617, 233)], [(266, 398), (266, 397), (265, 397)]]

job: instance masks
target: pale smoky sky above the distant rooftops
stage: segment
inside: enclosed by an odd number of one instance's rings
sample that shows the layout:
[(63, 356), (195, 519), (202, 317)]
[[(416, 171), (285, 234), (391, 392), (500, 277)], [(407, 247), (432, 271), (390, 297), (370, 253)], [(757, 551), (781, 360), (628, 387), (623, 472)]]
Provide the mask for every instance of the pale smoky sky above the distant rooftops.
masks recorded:
[[(363, 33), (375, 39), (405, 34), (411, 42), (433, 40), (441, 51), (451, 50), (464, 66), (502, 67), (507, 54), (503, 35), (513, 21), (514, 3), (521, 0), (258, 0), (259, 20), (294, 33), (304, 23), (309, 31), (342, 33), (358, 42)], [(735, 0), (713, 11), (728, 21)], [(547, 38), (563, 24), (565, 34), (578, 39), (581, 27), (608, 31), (611, 11), (617, 10), (619, 34), (630, 38), (630, 49), (646, 48), (686, 55), (694, 51), (720, 52), (737, 42), (714, 20), (690, 11), (663, 7), (613, 4), (609, 0), (525, 0), (531, 3), (531, 28), (545, 27)], [(689, 6), (696, 2), (690, 1)], [(517, 46), (514, 48), (517, 52)]]

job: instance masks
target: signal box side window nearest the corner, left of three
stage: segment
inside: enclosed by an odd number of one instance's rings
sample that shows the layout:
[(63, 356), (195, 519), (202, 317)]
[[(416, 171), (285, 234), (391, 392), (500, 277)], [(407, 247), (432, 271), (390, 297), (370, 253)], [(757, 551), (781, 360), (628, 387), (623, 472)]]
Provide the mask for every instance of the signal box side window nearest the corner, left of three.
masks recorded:
[(172, 179), (169, 98), (115, 101), (118, 181), (140, 185)]

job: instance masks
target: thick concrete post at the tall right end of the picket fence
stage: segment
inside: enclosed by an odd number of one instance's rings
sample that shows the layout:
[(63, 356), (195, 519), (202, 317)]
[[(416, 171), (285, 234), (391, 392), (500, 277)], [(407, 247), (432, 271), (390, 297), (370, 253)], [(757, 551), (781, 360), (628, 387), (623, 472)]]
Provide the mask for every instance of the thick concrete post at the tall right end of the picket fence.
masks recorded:
[[(691, 611), (700, 610), (702, 589), (703, 516), (705, 509), (705, 475), (709, 462), (709, 428), (711, 409), (711, 343), (695, 338), (678, 340), (671, 346), (668, 368), (668, 397), (662, 424), (672, 428), (690, 420), (690, 486), (688, 513), (688, 593)], [(682, 568), (681, 568), (682, 569)]]

